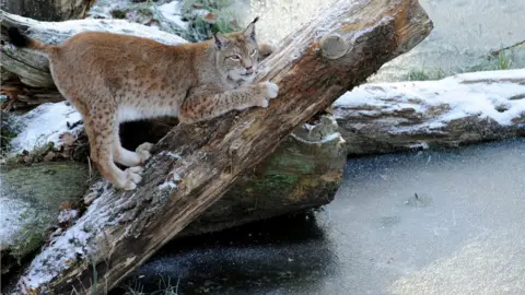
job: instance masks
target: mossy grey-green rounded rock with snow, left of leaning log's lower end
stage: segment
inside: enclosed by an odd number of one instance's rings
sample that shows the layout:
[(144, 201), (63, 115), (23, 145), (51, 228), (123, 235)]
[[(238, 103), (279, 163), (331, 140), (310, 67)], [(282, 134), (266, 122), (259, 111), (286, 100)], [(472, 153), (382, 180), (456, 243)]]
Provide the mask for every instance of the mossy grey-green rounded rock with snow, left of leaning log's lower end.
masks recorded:
[(0, 251), (2, 275), (44, 245), (58, 225), (60, 206), (79, 202), (89, 180), (85, 165), (40, 163), (0, 172)]

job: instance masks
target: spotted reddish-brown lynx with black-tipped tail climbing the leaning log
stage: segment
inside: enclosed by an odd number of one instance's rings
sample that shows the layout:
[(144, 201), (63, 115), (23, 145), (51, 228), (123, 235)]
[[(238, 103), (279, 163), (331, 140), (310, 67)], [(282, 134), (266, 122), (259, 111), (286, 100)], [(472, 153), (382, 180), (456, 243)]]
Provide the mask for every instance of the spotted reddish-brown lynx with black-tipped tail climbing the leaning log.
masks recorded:
[(119, 123), (164, 116), (192, 123), (232, 110), (266, 108), (278, 96), (275, 83), (253, 83), (259, 55), (271, 54), (269, 45), (259, 47), (256, 40), (257, 20), (243, 31), (176, 46), (103, 32), (79, 33), (54, 46), (15, 27), (8, 33), (14, 46), (47, 55), (58, 91), (82, 115), (98, 172), (116, 188), (133, 190), (153, 144), (144, 142), (135, 152), (124, 149)]

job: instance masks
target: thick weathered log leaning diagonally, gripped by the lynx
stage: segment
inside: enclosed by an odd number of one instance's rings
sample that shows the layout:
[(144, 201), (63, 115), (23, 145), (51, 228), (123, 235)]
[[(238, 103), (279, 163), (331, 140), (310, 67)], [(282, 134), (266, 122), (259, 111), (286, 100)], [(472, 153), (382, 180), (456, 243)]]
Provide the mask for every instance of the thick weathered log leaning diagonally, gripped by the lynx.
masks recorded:
[(42, 250), (15, 292), (107, 292), (218, 201), (298, 125), (432, 30), (416, 0), (341, 0), (331, 8), (261, 62), (266, 72), (257, 81), (280, 86), (267, 109), (178, 125), (155, 144), (135, 191), (95, 184), (88, 211)]

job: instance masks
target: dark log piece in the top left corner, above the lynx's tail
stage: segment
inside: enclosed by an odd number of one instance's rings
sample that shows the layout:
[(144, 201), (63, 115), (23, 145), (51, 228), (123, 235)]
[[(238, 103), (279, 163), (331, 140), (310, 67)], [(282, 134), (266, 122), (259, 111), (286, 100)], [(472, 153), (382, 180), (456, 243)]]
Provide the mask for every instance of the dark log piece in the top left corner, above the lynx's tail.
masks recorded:
[(38, 21), (59, 22), (85, 17), (95, 0), (1, 0), (0, 8)]

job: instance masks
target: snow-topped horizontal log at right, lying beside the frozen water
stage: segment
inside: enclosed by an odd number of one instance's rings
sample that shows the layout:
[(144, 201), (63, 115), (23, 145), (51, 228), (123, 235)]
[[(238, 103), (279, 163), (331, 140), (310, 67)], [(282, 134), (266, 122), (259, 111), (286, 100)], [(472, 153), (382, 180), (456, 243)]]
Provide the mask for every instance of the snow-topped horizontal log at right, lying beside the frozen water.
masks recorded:
[(349, 154), (525, 135), (525, 69), (365, 84), (337, 99), (332, 111)]

